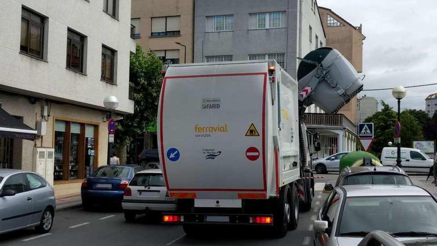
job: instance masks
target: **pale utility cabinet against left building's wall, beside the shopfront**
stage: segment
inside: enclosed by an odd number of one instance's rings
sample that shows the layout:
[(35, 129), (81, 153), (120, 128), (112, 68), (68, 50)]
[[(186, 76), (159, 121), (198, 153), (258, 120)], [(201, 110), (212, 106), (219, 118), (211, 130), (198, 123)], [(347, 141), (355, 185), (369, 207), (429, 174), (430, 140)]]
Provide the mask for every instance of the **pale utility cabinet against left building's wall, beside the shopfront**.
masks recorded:
[(33, 171), (43, 176), (53, 186), (53, 169), (55, 165), (55, 149), (35, 148)]

